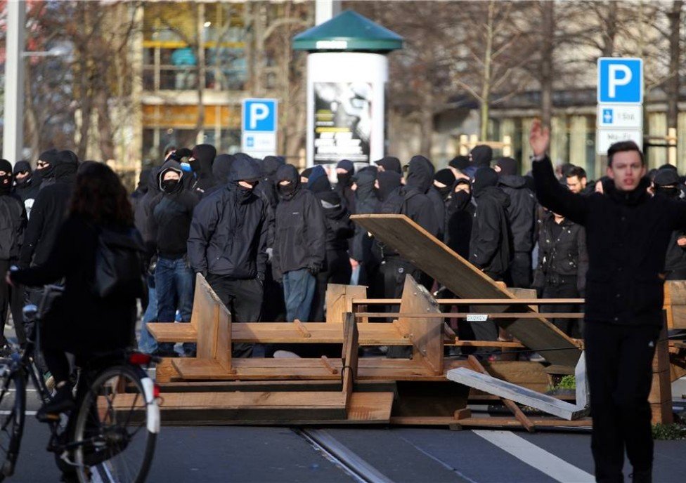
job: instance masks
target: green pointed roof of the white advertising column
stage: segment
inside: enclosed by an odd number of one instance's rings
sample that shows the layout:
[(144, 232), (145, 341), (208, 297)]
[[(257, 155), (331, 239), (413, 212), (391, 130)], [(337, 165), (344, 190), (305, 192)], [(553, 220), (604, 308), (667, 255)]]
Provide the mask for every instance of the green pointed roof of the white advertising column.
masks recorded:
[(296, 51), (390, 52), (403, 48), (403, 37), (348, 10), (293, 37)]

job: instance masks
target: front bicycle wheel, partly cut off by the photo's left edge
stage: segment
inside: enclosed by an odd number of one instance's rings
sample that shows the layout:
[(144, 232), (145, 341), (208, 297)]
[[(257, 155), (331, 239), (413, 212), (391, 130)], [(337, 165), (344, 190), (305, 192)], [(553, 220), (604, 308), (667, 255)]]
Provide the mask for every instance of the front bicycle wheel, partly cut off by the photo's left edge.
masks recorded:
[(9, 369), (0, 379), (0, 482), (13, 474), (19, 455), (26, 408), (25, 383), (20, 371)]

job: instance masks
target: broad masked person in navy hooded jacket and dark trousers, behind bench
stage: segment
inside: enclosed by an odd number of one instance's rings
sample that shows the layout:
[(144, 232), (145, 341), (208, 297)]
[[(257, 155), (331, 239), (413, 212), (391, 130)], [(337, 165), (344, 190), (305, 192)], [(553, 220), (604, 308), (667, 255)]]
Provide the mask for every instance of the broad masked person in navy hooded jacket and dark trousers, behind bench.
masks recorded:
[[(261, 319), (268, 206), (254, 192), (260, 176), (254, 161), (235, 159), (228, 183), (200, 201), (190, 223), (190, 267), (231, 310), (232, 322)], [(235, 344), (233, 355), (250, 357), (252, 344)]]

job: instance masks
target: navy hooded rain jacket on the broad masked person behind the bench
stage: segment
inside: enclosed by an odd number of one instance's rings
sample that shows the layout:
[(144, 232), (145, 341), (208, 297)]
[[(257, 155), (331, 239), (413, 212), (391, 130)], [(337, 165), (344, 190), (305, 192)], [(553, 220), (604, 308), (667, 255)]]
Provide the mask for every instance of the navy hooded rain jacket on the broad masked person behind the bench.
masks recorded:
[(254, 161), (238, 157), (231, 163), (227, 182), (200, 201), (188, 235), (193, 271), (230, 279), (264, 279), (269, 207), (254, 190), (238, 185), (240, 180), (259, 177)]

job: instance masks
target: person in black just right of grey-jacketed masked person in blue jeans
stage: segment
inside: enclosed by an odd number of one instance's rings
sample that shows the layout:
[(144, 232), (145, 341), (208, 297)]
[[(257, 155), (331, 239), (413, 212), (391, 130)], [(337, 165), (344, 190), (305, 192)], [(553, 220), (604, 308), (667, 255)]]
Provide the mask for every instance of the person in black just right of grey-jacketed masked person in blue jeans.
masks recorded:
[[(321, 166), (315, 166), (317, 168), (324, 171)], [(307, 187), (321, 203), (326, 224), (326, 258), (322, 270), (317, 274), (310, 314), (311, 321), (323, 322), (327, 284), (350, 283), (352, 267), (348, 255), (348, 240), (355, 234), (355, 227), (340, 195), (332, 190), (326, 173), (312, 183), (309, 182)]]

